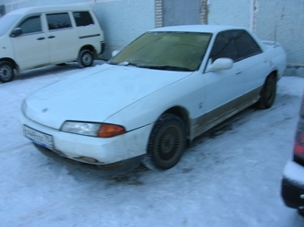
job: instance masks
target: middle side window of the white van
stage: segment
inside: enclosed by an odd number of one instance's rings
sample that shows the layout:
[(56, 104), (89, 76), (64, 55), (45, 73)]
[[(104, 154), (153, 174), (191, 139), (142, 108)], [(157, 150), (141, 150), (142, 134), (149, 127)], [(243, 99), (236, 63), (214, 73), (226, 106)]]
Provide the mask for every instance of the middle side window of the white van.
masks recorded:
[(46, 14), (49, 30), (72, 28), (69, 13)]

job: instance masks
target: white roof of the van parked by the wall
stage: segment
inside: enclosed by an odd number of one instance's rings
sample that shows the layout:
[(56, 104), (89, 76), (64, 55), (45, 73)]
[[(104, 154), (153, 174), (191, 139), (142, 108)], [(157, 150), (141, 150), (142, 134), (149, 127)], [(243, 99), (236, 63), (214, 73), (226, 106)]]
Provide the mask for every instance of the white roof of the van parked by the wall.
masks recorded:
[(62, 4), (62, 5), (45, 5), (33, 6), (14, 10), (7, 14), (29, 14), (29, 13), (49, 13), (49, 12), (67, 12), (67, 11), (88, 11), (91, 9), (86, 4)]

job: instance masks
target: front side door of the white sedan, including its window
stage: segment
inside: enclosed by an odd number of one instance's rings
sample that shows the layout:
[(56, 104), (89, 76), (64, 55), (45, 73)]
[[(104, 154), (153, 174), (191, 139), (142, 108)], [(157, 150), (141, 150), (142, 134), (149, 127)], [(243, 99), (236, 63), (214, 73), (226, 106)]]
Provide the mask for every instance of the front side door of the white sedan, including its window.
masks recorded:
[(229, 31), (219, 33), (209, 56), (209, 62), (214, 63), (218, 58), (231, 58), (234, 63), (232, 69), (223, 71), (207, 71), (204, 78), (204, 128), (214, 126), (223, 120), (224, 115), (235, 109), (244, 92), (244, 80), (241, 77), (242, 65), (235, 62), (237, 51), (234, 39)]

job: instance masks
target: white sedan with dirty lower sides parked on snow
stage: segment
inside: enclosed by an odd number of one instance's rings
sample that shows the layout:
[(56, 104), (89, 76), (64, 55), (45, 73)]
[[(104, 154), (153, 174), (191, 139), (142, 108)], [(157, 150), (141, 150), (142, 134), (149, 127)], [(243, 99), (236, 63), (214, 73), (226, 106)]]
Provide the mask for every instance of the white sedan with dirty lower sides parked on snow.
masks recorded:
[(238, 27), (152, 29), (107, 63), (22, 102), (23, 134), (87, 164), (177, 164), (187, 142), (255, 103), (274, 103), (283, 48)]

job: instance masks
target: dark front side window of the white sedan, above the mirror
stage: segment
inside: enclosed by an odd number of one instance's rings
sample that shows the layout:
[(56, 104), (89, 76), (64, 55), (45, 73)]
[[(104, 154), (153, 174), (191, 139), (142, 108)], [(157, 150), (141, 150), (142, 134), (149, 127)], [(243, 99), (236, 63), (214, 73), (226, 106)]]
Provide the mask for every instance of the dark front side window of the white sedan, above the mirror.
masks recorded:
[(216, 36), (215, 43), (210, 54), (212, 62), (215, 62), (217, 58), (221, 57), (228, 57), (233, 61), (236, 61), (237, 59), (237, 52), (233, 38), (227, 31), (221, 32)]

